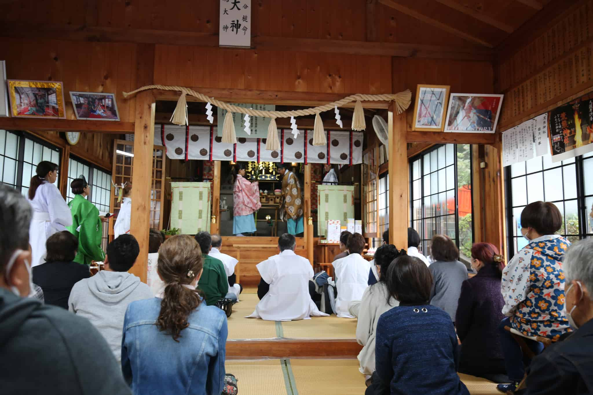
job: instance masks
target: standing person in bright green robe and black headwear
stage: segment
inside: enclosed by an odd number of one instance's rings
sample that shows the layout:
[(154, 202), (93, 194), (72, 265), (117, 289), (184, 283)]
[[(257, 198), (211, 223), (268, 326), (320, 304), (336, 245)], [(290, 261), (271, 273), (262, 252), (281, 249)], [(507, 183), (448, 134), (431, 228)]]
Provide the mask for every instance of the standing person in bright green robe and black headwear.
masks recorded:
[(72, 226), (66, 229), (78, 238), (78, 253), (74, 262), (83, 265), (90, 265), (92, 261), (102, 262), (105, 258), (101, 249), (103, 223), (97, 207), (86, 198), (91, 192), (91, 186), (81, 175), (72, 180), (70, 188), (75, 196), (68, 203), (72, 211)]

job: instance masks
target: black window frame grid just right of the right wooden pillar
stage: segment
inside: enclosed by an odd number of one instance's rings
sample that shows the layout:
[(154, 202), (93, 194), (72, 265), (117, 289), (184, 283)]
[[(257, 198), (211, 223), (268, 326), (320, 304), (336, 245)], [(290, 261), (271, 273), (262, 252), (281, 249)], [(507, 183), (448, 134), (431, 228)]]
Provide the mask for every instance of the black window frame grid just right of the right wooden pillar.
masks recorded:
[[(460, 144), (451, 143), (451, 145), (453, 146), (453, 164), (452, 165), (445, 165), (445, 167), (442, 168), (442, 169), (446, 169), (449, 166), (453, 166), (453, 179), (454, 179), (454, 183), (455, 183), (455, 187), (453, 188), (454, 201), (455, 201), (455, 210), (454, 210), (454, 213), (453, 214), (446, 214), (446, 215), (454, 215), (454, 217), (455, 217), (455, 240), (454, 240), (454, 242), (455, 242), (455, 245), (457, 246), (457, 248), (459, 249), (460, 248), (460, 242), (461, 242), (461, 240), (460, 240), (460, 231), (459, 231), (459, 196), (458, 196), (459, 185), (458, 185), (458, 160), (457, 160), (458, 159), (458, 152), (457, 152), (457, 146), (460, 145)], [(471, 171), (471, 169), (473, 167), (473, 152), (472, 152), (472, 149), (471, 149), (472, 144), (461, 144), (461, 145), (468, 145), (469, 146), (469, 155), (470, 155), (470, 159), (469, 159), (469, 161), (470, 161), (470, 185), (471, 185), (471, 187), (473, 187), (473, 181), (474, 181), (473, 180), (473, 171)], [(424, 214), (424, 207), (423, 207), (424, 203), (423, 203), (423, 201), (424, 201), (425, 195), (424, 195), (424, 181), (423, 181), (423, 178), (426, 176), (424, 174), (424, 157), (425, 157), (425, 155), (430, 155), (431, 152), (434, 152), (434, 151), (438, 150), (440, 147), (445, 147), (445, 150), (446, 150), (446, 146), (447, 146), (447, 144), (435, 144), (434, 146), (430, 147), (429, 149), (423, 150), (422, 152), (417, 153), (415, 156), (412, 156), (411, 158), (408, 158), (408, 171), (409, 171), (409, 173), (408, 173), (408, 179), (409, 179), (408, 188), (409, 188), (409, 201), (410, 201), (410, 207), (409, 207), (409, 210), (410, 210), (409, 211), (409, 216), (410, 216), (409, 227), (412, 227), (412, 229), (415, 229), (416, 232), (419, 233), (419, 235), (420, 235), (420, 248), (419, 248), (419, 251), (421, 253), (423, 253), (423, 255), (426, 255), (426, 256), (429, 255), (428, 254), (428, 248), (427, 248), (426, 245), (423, 245), (424, 244), (423, 242), (425, 242), (425, 240), (427, 240), (427, 239), (424, 239), (424, 237), (422, 236), (424, 234), (424, 230), (425, 230), (425, 220), (427, 218), (428, 219), (433, 219), (433, 220), (435, 220), (437, 218), (440, 219), (441, 217), (444, 217), (444, 216), (443, 215), (440, 215), (440, 216), (429, 216), (429, 217), (425, 217), (424, 216), (425, 214)], [(446, 156), (445, 156), (445, 158), (446, 158)], [(414, 171), (414, 167), (413, 166), (414, 166), (414, 162), (416, 162), (416, 160), (419, 160), (419, 162), (420, 162), (420, 167), (419, 167), (419, 176), (420, 176), (420, 178), (417, 178), (417, 180), (420, 181), (420, 197), (419, 198), (416, 198), (416, 200), (420, 200), (420, 213), (421, 214), (420, 214), (420, 217), (418, 219), (416, 219), (416, 221), (419, 221), (420, 222), (420, 229), (416, 229), (414, 227), (414, 222), (415, 222), (415, 219), (414, 219), (414, 200), (415, 200), (415, 197), (414, 197), (414, 181), (415, 181), (415, 179), (414, 179), (414, 176), (413, 176), (413, 171)], [(446, 163), (446, 159), (445, 159), (445, 163)], [(439, 170), (441, 170), (441, 169), (437, 169), (436, 172), (438, 172)], [(430, 175), (432, 173), (433, 172), (431, 171), (431, 172), (429, 172), (428, 175)], [(445, 177), (446, 177), (446, 175), (445, 175)], [(473, 214), (474, 213), (473, 188), (471, 189), (471, 191), (472, 191), (472, 196), (471, 196), (471, 214)], [(447, 190), (445, 190), (445, 194), (446, 194), (446, 192), (447, 192)], [(436, 192), (436, 193), (439, 194), (439, 193), (443, 193), (443, 192)], [(429, 194), (428, 196), (431, 196), (431, 195), (433, 195), (433, 194)], [(446, 200), (445, 200), (445, 202), (446, 202)], [(476, 236), (476, 234), (475, 234), (475, 224), (474, 224), (474, 221), (473, 221), (473, 218), (472, 218), (472, 221), (471, 221), (471, 239), (472, 240), (475, 240), (475, 236)], [(431, 239), (432, 239), (432, 237), (431, 237)], [(460, 251), (460, 254), (461, 254), (461, 251)], [(461, 256), (460, 256), (460, 259), (461, 259)]]

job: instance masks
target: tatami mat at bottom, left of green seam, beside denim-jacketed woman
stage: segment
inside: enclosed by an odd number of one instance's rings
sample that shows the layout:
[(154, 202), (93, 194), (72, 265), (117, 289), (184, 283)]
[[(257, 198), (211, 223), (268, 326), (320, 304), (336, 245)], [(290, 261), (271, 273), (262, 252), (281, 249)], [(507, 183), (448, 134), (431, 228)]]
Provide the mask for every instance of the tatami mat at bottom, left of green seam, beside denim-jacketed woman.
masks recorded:
[(241, 395), (293, 395), (286, 391), (283, 364), (283, 359), (226, 361), (225, 370), (237, 377)]

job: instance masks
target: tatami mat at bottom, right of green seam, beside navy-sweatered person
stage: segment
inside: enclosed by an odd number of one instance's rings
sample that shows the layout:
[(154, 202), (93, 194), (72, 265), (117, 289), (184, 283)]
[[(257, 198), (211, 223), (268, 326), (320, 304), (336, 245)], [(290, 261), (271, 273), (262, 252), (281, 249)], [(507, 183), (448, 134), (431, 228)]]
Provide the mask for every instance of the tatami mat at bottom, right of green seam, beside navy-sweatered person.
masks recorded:
[(290, 359), (298, 395), (365, 393), (358, 359)]

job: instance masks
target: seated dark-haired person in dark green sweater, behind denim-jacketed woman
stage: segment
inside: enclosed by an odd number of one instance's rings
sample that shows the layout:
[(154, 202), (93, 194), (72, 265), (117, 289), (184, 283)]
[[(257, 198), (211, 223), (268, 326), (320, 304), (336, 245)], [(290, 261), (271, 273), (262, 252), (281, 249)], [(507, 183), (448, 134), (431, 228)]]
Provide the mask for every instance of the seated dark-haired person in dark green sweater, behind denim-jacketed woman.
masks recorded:
[(209, 256), (212, 249), (212, 236), (208, 232), (198, 232), (196, 242), (202, 249), (203, 271), (197, 289), (205, 294), (206, 304), (212, 306), (217, 301), (225, 298), (228, 293), (228, 278), (224, 265), (220, 259)]

